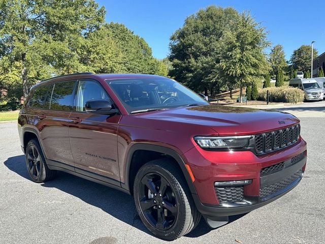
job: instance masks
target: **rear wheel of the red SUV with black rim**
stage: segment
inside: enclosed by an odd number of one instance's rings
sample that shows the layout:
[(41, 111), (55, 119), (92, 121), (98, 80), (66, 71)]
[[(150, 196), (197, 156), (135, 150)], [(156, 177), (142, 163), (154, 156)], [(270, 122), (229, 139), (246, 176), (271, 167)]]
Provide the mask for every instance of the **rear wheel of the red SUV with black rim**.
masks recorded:
[(48, 168), (37, 139), (31, 139), (27, 143), (25, 157), (27, 171), (32, 181), (42, 183), (55, 177), (56, 170)]

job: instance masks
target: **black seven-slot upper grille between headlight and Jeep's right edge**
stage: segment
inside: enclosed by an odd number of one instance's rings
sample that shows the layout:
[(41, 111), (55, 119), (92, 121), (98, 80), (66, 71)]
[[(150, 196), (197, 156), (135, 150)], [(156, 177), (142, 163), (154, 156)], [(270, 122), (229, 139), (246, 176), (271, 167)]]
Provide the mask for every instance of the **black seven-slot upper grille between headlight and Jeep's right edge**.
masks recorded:
[(254, 135), (256, 154), (266, 154), (295, 143), (300, 135), (300, 125), (282, 130)]

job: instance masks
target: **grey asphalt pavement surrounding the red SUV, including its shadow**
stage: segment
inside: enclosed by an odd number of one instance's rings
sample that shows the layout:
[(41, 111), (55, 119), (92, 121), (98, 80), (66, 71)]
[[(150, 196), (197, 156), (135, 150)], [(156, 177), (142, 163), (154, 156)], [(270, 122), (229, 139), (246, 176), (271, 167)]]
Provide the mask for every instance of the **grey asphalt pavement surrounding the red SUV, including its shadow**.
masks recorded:
[[(175, 243), (322, 243), (325, 234), (325, 101), (281, 108), (301, 119), (308, 143), (301, 183), (282, 198), (218, 229), (202, 219)], [(163, 243), (136, 214), (133, 198), (60, 172), (28, 179), (16, 123), (0, 124), (0, 243)]]

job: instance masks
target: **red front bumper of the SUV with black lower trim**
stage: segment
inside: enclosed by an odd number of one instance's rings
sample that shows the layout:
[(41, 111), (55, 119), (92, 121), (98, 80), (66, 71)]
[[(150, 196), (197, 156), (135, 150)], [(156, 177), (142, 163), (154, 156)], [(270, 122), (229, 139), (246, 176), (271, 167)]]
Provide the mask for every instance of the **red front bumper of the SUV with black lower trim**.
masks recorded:
[[(198, 210), (205, 217), (213, 218), (244, 214), (292, 190), (303, 177), (307, 150), (306, 142), (300, 138), (293, 146), (263, 156), (256, 156), (250, 151), (230, 153), (203, 151), (201, 148), (189, 151), (186, 155), (192, 157), (196, 155), (197, 159), (201, 159), (200, 165), (190, 164), (197, 191), (197, 194), (192, 193), (192, 196)], [(264, 169), (278, 164), (282, 164), (283, 168), (262, 173)], [(214, 186), (215, 181), (245, 179), (251, 179), (252, 183), (242, 186), (242, 195), (239, 199), (223, 198), (222, 201)]]

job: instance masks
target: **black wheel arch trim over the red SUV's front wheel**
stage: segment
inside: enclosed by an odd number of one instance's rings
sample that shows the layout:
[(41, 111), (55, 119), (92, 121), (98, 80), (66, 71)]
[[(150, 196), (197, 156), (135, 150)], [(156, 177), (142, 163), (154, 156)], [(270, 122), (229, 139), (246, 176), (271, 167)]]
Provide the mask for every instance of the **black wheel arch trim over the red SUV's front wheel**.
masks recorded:
[[(142, 151), (151, 151), (153, 153), (158, 153), (160, 155), (163, 155), (163, 157), (160, 157), (160, 158), (169, 157), (169, 158), (173, 159), (177, 163), (177, 166), (182, 171), (190, 192), (193, 194), (197, 194), (196, 189), (193, 185), (193, 182), (192, 182), (191, 177), (186, 169), (185, 162), (183, 161), (182, 157), (175, 150), (173, 150), (171, 148), (168, 148), (165, 146), (147, 144), (147, 143), (137, 143), (137, 144), (134, 144), (133, 146), (131, 146), (131, 148), (129, 148), (127, 157), (126, 157), (126, 165), (125, 165), (125, 172), (124, 172), (125, 182), (124, 183), (121, 182), (122, 188), (127, 190), (129, 193), (133, 194), (134, 178), (132, 178), (132, 177), (136, 175), (136, 173), (138, 172), (139, 168), (142, 165), (147, 163), (147, 161), (145, 161), (144, 163), (140, 163), (140, 165), (138, 165), (138, 167), (134, 167), (135, 164), (137, 165), (137, 162), (134, 160), (134, 156), (137, 154), (137, 151), (139, 151), (139, 150), (140, 151), (141, 150)], [(133, 168), (138, 168), (138, 170), (136, 172), (132, 172), (131, 169), (133, 169)]]

